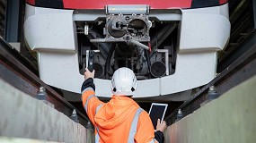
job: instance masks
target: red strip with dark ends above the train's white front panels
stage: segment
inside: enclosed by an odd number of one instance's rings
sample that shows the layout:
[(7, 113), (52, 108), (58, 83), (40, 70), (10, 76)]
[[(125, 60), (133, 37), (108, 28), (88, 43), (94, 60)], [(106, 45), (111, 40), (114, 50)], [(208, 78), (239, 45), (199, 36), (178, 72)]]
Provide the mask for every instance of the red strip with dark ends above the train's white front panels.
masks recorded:
[(104, 9), (108, 4), (148, 4), (151, 9), (172, 9), (172, 8), (200, 8), (216, 6), (227, 3), (227, 0), (26, 0), (28, 4), (39, 7), (65, 8), (65, 9)]

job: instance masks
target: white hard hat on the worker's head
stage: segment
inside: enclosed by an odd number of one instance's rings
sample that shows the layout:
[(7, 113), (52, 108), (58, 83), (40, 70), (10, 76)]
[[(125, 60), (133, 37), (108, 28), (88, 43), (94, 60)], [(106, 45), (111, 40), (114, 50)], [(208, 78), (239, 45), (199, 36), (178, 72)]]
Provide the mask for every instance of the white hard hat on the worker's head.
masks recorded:
[(112, 93), (116, 96), (132, 96), (137, 88), (137, 79), (133, 71), (119, 68), (111, 80)]

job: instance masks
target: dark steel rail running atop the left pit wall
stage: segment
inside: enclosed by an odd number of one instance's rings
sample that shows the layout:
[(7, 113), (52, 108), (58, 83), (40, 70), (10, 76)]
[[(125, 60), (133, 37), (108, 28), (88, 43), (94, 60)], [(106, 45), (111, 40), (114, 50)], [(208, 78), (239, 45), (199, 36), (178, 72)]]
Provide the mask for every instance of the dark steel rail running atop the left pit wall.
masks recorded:
[[(17, 55), (17, 51), (12, 46), (6, 43), (3, 38), (0, 38), (0, 78), (31, 97), (36, 96), (41, 86), (45, 87), (48, 101), (59, 112), (70, 117), (75, 106), (67, 102), (56, 90), (49, 87), (49, 85), (40, 80), (37, 75), (22, 64), (20, 62), (21, 58), (22, 56)], [(76, 110), (76, 113), (80, 123), (85, 126), (89, 119), (79, 110)]]

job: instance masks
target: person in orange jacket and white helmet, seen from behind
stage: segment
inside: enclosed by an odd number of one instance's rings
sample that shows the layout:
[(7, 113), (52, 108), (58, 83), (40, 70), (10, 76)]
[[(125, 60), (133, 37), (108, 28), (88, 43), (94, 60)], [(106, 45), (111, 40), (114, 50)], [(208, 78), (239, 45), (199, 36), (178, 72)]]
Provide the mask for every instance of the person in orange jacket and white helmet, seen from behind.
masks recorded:
[(82, 100), (85, 112), (95, 128), (95, 142), (163, 142), (166, 122), (157, 122), (156, 132), (149, 115), (131, 98), (137, 88), (133, 71), (120, 68), (111, 80), (113, 96), (103, 103), (95, 96), (94, 71), (85, 69)]

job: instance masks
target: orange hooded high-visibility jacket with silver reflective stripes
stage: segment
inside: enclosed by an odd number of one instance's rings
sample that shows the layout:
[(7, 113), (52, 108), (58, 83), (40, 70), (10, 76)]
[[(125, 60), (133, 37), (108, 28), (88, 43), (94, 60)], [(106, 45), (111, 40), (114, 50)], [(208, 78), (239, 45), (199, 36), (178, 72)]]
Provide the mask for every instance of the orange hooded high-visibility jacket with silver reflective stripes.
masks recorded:
[[(128, 142), (131, 124), (139, 108), (133, 99), (112, 96), (110, 102), (103, 103), (95, 97), (94, 88), (89, 86), (83, 89), (82, 100), (84, 109), (95, 127), (95, 139), (99, 135), (99, 142)], [(132, 142), (154, 142), (154, 127), (144, 110), (138, 116), (137, 130)]]

